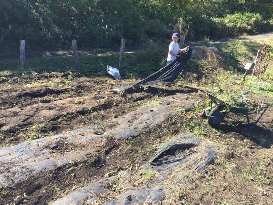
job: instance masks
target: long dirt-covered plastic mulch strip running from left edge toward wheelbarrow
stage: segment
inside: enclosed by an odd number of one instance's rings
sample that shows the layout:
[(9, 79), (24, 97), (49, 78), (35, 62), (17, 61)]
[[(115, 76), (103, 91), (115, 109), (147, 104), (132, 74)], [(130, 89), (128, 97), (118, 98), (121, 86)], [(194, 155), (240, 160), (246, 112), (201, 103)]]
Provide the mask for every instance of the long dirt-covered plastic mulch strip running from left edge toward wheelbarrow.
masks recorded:
[(64, 134), (33, 140), (29, 143), (0, 149), (0, 185), (14, 187), (16, 183), (38, 173), (65, 166), (74, 160), (95, 153), (107, 143), (107, 137), (127, 139), (139, 136), (143, 129), (158, 126), (176, 115), (175, 109), (189, 111), (193, 99), (185, 94), (164, 97), (155, 105), (138, 108), (122, 117), (104, 122), (104, 132), (98, 126), (69, 131)]

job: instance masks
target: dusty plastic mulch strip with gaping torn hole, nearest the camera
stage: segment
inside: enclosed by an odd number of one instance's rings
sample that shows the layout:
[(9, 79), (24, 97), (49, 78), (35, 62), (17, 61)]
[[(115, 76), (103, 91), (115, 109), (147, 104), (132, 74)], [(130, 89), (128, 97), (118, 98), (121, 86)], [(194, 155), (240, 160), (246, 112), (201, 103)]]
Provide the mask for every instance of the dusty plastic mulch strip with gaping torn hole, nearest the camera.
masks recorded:
[[(193, 150), (191, 150), (191, 148)], [(115, 184), (117, 178), (122, 178), (125, 183), (122, 183), (124, 193), (117, 193), (107, 202), (102, 205), (128, 205), (148, 202), (151, 204), (162, 202), (169, 195), (169, 189), (164, 184), (183, 184), (179, 173), (183, 172), (183, 165), (187, 163), (190, 171), (198, 171), (205, 166), (214, 162), (218, 156), (220, 147), (208, 144), (205, 141), (195, 137), (192, 134), (182, 133), (176, 140), (170, 141), (166, 146), (161, 148), (157, 154), (145, 165), (141, 167), (143, 170), (151, 170), (157, 173), (157, 177), (146, 184), (129, 183), (132, 181), (128, 175), (128, 170), (121, 171), (118, 176), (109, 177), (85, 187), (78, 188), (69, 193), (67, 196), (52, 202), (51, 205), (60, 204), (92, 204), (97, 196), (102, 196), (107, 193)], [(169, 177), (175, 172), (175, 179), (169, 182)], [(97, 201), (98, 202), (98, 201)]]

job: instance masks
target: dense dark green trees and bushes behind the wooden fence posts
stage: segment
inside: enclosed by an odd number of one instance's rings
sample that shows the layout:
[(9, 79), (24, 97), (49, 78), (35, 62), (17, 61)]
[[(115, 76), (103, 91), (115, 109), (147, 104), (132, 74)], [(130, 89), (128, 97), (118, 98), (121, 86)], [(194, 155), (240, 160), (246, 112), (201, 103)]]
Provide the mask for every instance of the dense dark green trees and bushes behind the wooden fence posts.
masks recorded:
[[(162, 41), (189, 25), (188, 39), (239, 35), (272, 29), (266, 0), (4, 0), (0, 4), (0, 48), (127, 45)], [(201, 26), (202, 25), (202, 26)]]

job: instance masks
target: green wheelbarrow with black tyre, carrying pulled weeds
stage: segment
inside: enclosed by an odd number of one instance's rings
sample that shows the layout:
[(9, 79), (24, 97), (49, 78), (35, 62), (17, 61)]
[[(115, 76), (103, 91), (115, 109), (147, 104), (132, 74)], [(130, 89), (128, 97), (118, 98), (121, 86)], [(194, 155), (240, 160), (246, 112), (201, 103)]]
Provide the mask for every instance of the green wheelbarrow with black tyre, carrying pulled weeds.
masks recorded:
[[(247, 91), (246, 93), (244, 93), (244, 95), (249, 92), (250, 91)], [(236, 107), (236, 106), (233, 106), (233, 105), (230, 105), (230, 104), (224, 102), (223, 100), (217, 98), (216, 96), (209, 93), (208, 91), (205, 91), (205, 93), (210, 98), (210, 106), (201, 113), (201, 116), (207, 116), (208, 124), (211, 127), (217, 127), (223, 121), (225, 116), (229, 112), (232, 112), (235, 115), (245, 115), (247, 118), (248, 127), (252, 129), (259, 122), (259, 120), (264, 115), (264, 113), (266, 112), (268, 107), (273, 105), (273, 103), (270, 103), (270, 104), (267, 104), (267, 106), (261, 107), (261, 108)], [(259, 112), (261, 112), (260, 116), (254, 122), (254, 124), (251, 125), (250, 120), (249, 120), (249, 115), (258, 114)]]

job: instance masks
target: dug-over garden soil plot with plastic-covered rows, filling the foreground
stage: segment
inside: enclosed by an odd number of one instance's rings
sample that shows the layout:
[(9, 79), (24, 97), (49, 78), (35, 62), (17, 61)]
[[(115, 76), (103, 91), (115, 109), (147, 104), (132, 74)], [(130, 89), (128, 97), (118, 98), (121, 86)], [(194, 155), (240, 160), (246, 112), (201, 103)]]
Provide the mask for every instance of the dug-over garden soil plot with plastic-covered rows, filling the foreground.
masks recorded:
[[(2, 76), (0, 204), (271, 204), (273, 107), (254, 129), (235, 115), (214, 129), (199, 117), (208, 100), (204, 92), (179, 83), (119, 95), (110, 91), (133, 83), (77, 72)], [(182, 133), (202, 142), (166, 152), (153, 163), (182, 152), (184, 158), (188, 151), (198, 154), (211, 144), (217, 147), (212, 164), (204, 161), (197, 171), (191, 155), (168, 173), (143, 169)], [(28, 158), (27, 150), (33, 156)], [(88, 188), (96, 183), (104, 190)], [(140, 198), (141, 189), (151, 198)], [(87, 193), (69, 201), (77, 190)], [(161, 198), (153, 197), (161, 191)]]

